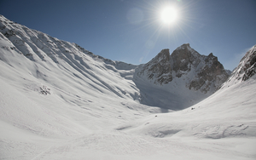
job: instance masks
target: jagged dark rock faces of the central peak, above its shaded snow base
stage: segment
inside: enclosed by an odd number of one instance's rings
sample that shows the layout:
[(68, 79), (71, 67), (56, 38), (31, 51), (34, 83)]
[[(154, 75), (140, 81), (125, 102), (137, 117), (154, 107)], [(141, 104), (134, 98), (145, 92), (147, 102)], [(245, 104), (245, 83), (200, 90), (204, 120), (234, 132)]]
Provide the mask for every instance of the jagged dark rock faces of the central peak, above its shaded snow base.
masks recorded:
[(189, 43), (185, 43), (171, 55), (169, 49), (160, 51), (154, 59), (137, 68), (137, 76), (146, 76), (149, 81), (160, 85), (172, 83), (173, 78), (180, 78), (188, 89), (207, 93), (218, 89), (229, 74), (212, 53), (201, 55), (190, 48)]

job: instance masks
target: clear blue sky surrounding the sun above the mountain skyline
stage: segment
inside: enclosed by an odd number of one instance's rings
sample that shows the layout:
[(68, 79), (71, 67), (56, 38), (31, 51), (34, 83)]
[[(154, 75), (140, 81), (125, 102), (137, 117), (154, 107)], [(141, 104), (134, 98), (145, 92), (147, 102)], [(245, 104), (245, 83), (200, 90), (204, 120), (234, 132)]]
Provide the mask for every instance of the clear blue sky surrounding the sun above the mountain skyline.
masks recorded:
[[(161, 13), (168, 6), (176, 19), (166, 24)], [(134, 65), (189, 43), (233, 70), (256, 44), (255, 0), (1, 0), (0, 14)]]

